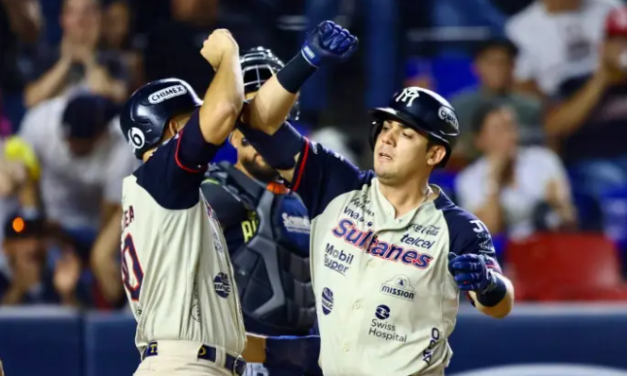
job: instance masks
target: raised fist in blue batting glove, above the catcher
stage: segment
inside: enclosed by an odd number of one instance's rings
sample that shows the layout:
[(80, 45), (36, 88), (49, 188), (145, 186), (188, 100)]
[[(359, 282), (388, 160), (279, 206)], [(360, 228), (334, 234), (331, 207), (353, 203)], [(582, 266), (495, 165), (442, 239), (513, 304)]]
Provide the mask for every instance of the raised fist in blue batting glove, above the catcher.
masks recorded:
[(301, 52), (309, 64), (320, 67), (327, 61), (348, 59), (358, 45), (359, 40), (348, 30), (324, 21), (309, 33)]

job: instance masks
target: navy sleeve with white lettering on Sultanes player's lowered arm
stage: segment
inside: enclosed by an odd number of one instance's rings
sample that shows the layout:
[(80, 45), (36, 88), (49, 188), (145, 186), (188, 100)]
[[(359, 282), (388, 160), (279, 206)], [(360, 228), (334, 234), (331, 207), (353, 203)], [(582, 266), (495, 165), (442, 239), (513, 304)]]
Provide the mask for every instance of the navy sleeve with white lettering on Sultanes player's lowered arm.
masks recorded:
[(484, 257), (488, 268), (501, 273), (490, 231), (474, 215), (453, 207), (444, 216), (449, 230), (450, 252), (457, 256), (475, 254)]

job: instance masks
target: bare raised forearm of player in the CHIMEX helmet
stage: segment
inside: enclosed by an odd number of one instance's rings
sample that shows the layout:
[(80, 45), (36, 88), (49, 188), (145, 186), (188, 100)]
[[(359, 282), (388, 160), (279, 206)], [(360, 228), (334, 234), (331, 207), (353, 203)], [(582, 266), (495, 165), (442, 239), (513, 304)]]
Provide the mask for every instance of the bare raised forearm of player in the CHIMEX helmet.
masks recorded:
[(244, 103), (244, 83), (238, 50), (222, 58), (200, 107), (205, 141), (221, 145), (233, 130)]

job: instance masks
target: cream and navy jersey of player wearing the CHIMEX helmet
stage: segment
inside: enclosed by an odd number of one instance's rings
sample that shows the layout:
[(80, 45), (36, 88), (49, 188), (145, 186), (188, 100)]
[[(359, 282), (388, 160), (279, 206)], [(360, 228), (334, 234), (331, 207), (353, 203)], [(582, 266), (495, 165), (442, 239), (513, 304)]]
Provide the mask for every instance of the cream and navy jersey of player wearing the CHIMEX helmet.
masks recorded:
[(122, 278), (135, 343), (141, 351), (180, 339), (241, 354), (246, 335), (222, 230), (201, 199), (202, 173), (177, 166), (173, 153), (163, 146), (123, 183)]

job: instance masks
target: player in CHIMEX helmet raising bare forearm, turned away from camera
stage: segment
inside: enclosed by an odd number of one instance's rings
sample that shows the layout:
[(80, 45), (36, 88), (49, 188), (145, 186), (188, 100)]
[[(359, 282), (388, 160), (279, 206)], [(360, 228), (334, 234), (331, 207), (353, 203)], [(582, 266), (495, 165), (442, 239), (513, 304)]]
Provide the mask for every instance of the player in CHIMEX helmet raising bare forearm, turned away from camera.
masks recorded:
[(239, 48), (214, 31), (202, 56), (215, 77), (202, 102), (181, 80), (138, 89), (122, 131), (143, 160), (123, 182), (122, 279), (137, 320), (135, 375), (241, 375), (246, 346), (220, 225), (202, 199), (209, 161), (231, 133), (244, 88)]

